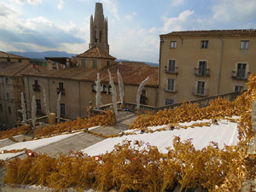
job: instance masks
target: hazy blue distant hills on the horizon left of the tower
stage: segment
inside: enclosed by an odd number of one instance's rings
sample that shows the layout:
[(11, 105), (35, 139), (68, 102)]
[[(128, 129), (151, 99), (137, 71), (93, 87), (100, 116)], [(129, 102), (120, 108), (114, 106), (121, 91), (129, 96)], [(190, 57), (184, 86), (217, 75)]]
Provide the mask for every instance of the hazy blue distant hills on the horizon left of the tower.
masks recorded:
[(8, 53), (25, 56), (31, 59), (44, 60), (44, 57), (72, 57), (77, 54), (70, 54), (66, 51), (44, 51), (44, 52), (15, 52), (9, 51)]

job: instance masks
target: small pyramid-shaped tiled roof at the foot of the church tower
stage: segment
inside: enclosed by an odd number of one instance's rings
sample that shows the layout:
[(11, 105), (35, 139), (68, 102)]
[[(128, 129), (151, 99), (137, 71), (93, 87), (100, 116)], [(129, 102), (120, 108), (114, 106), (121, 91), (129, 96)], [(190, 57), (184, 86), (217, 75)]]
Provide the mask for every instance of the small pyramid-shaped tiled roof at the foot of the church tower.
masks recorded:
[(83, 54), (77, 55), (77, 57), (86, 57), (86, 58), (106, 58), (115, 60), (116, 58), (109, 55), (103, 49), (98, 46), (95, 46), (91, 49), (86, 50)]

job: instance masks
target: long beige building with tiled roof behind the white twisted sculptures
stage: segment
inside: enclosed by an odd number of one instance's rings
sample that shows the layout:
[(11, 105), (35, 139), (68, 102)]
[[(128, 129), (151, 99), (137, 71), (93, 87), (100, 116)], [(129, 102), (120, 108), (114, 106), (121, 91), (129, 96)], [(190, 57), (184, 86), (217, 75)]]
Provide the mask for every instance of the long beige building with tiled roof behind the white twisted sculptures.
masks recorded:
[[(89, 102), (96, 105), (96, 74), (100, 73), (102, 84), (102, 104), (112, 102), (111, 86), (109, 85), (108, 69), (112, 73), (119, 100), (119, 85), (117, 70), (121, 73), (125, 84), (125, 102), (136, 102), (137, 88), (144, 79), (150, 78), (143, 89), (141, 102), (156, 106), (157, 102), (157, 67), (148, 66), (142, 62), (122, 61), (102, 69), (87, 69), (86, 67), (63, 68), (59, 70), (46, 70), (44, 72), (26, 73), (24, 76), (26, 86), (26, 101), (31, 103), (32, 96), (36, 96), (38, 108), (45, 113), (44, 93), (49, 101), (49, 111), (56, 113), (57, 98), (61, 91), (61, 117), (76, 119), (87, 115), (86, 108)], [(40, 89), (34, 89), (35, 84)], [(31, 106), (27, 106), (31, 113)]]

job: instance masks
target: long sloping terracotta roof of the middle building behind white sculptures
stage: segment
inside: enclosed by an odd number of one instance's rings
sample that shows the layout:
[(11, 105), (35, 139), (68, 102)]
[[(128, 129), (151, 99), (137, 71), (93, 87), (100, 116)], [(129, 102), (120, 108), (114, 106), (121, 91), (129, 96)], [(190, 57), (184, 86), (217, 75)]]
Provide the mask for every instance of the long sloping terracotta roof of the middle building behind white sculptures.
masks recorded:
[[(132, 64), (131, 64), (132, 63)], [(113, 64), (109, 68), (113, 76), (113, 81), (118, 83), (117, 70), (123, 78), (124, 84), (134, 84), (139, 85), (146, 79), (148, 76), (150, 78), (147, 85), (157, 86), (158, 84), (158, 67), (151, 67), (145, 63), (131, 62), (130, 64)], [(137, 63), (137, 64), (136, 64)], [(64, 68), (58, 70), (47, 70), (44, 72), (33, 72), (26, 73), (28, 76), (38, 76), (45, 78), (56, 78), (56, 79), (73, 79), (81, 81), (96, 81), (96, 73), (100, 73), (101, 81), (108, 82), (108, 68), (103, 69), (92, 69), (87, 70), (82, 67), (74, 68)]]

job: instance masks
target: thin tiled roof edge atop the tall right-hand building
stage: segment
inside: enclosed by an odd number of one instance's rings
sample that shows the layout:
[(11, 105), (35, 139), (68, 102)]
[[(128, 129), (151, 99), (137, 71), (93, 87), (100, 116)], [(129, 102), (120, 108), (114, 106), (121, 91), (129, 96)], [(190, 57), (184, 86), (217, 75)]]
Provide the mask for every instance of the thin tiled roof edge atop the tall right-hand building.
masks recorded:
[(180, 36), (256, 36), (256, 29), (234, 29), (234, 30), (207, 30), (207, 31), (182, 31), (169, 32), (160, 37)]

